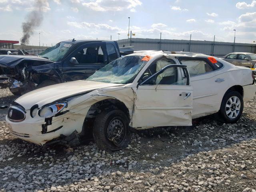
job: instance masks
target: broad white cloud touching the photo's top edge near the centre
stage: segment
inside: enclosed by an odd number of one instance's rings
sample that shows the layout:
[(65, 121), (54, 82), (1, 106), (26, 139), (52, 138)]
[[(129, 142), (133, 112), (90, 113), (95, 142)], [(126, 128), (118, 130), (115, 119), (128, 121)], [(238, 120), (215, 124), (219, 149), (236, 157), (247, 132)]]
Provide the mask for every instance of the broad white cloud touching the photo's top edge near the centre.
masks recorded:
[(134, 12), (136, 6), (142, 5), (139, 0), (91, 0), (90, 2), (82, 3), (94, 11), (122, 11), (125, 9), (130, 9)]

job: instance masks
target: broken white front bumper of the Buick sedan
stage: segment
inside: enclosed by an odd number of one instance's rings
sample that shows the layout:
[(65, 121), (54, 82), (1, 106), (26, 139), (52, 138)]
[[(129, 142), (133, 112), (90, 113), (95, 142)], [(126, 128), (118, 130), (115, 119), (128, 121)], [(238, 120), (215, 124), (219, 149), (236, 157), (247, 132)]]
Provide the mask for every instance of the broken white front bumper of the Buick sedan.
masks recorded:
[(29, 112), (26, 114), (25, 120), (21, 122), (13, 122), (6, 116), (6, 126), (14, 136), (38, 145), (44, 145), (61, 135), (69, 136), (75, 130), (80, 133), (85, 118), (85, 115), (67, 112), (64, 115), (53, 117), (51, 124), (47, 126), (47, 132), (45, 132), (44, 118), (39, 116), (32, 118)]

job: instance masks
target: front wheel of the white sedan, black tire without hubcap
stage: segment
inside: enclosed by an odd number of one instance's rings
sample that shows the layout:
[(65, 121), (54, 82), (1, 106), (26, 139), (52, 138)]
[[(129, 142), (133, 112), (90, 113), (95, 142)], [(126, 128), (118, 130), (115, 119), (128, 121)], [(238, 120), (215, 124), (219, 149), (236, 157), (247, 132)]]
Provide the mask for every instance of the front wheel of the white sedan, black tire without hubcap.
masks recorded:
[[(106, 151), (121, 150), (132, 138), (128, 117), (121, 110), (100, 113), (94, 121), (92, 133), (97, 147)], [(115, 138), (120, 133), (122, 134)]]

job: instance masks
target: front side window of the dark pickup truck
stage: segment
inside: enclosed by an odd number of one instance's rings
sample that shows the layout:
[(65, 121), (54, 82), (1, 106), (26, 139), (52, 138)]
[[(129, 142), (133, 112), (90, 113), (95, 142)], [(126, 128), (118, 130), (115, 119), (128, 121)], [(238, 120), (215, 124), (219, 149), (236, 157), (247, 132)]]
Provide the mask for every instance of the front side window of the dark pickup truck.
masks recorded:
[(79, 64), (101, 64), (104, 63), (104, 54), (101, 46), (90, 46), (82, 48), (75, 56)]

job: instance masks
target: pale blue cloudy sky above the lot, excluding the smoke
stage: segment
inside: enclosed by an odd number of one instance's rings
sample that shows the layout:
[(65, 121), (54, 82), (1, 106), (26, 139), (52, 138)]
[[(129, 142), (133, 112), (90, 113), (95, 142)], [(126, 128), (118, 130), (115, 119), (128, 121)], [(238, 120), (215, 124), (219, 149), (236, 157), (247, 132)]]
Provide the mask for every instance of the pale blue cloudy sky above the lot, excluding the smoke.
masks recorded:
[[(38, 0), (42, 23), (29, 45), (68, 39), (160, 38), (253, 43), (256, 0)], [(20, 40), (36, 0), (0, 0), (0, 40)], [(118, 33), (120, 35), (118, 35)]]

